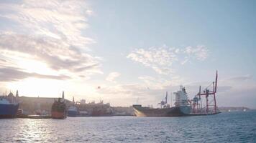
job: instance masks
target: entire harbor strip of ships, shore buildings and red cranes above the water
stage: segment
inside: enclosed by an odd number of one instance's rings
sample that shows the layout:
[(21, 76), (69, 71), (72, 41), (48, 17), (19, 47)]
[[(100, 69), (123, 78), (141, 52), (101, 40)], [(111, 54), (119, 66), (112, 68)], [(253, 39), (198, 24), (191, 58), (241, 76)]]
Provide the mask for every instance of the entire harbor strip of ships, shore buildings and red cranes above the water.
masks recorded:
[[(88, 102), (81, 99), (76, 102), (65, 99), (65, 93), (61, 98), (19, 97), (17, 91), (15, 96), (10, 92), (0, 97), (0, 117), (3, 118), (29, 118), (29, 119), (65, 119), (66, 117), (112, 117), (112, 116), (137, 116), (137, 117), (183, 117), (202, 116), (221, 113), (216, 104), (218, 72), (216, 71), (215, 82), (212, 87), (208, 86), (198, 93), (193, 99), (188, 99), (186, 88), (180, 86), (180, 90), (174, 92), (174, 107), (168, 104), (168, 92), (165, 101), (161, 101), (158, 108), (142, 107), (134, 104), (131, 107), (111, 107), (109, 103), (104, 104)], [(205, 97), (205, 104), (202, 98)], [(211, 99), (211, 100), (209, 100)], [(32, 104), (31, 104), (32, 103)]]

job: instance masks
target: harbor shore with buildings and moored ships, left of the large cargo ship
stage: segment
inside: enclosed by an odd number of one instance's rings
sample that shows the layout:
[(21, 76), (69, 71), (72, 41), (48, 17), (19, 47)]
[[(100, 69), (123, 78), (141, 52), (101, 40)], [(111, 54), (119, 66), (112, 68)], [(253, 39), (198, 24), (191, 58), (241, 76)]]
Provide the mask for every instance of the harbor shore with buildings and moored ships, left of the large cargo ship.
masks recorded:
[[(10, 104), (10, 105), (9, 105)], [(7, 107), (9, 105), (9, 107)], [(65, 117), (111, 117), (133, 116), (132, 107), (111, 107), (102, 100), (99, 103), (88, 102), (84, 99), (75, 102), (61, 98), (20, 97), (19, 92), (14, 95), (0, 96), (0, 118), (30, 118), (30, 119), (65, 119)], [(65, 107), (61, 107), (65, 106)], [(13, 112), (10, 111), (13, 108)]]

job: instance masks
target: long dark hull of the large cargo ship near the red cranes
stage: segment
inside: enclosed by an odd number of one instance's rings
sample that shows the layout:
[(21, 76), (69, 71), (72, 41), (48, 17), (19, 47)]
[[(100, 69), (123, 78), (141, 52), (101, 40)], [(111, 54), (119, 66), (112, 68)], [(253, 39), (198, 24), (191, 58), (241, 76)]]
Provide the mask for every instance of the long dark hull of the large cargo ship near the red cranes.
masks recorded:
[(134, 114), (137, 117), (181, 117), (188, 116), (190, 113), (191, 107), (171, 107), (163, 109), (134, 107)]

